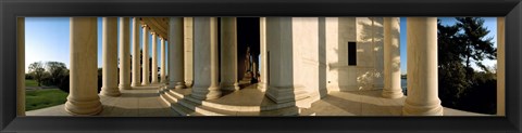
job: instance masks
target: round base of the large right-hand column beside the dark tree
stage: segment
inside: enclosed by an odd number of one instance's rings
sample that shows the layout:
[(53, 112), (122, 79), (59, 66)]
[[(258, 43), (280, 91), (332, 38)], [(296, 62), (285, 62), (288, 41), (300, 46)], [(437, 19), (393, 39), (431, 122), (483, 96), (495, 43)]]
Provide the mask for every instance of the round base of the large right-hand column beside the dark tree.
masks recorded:
[(402, 107), (402, 116), (443, 116), (443, 106), (440, 101), (427, 105), (414, 105), (407, 99)]

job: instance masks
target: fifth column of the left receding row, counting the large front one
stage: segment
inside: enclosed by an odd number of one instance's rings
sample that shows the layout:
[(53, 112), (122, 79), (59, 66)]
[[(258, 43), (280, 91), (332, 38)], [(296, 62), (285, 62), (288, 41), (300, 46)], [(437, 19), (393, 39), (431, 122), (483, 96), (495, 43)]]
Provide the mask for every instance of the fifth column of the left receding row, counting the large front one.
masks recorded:
[(147, 25), (142, 25), (144, 28), (144, 37), (142, 37), (142, 56), (141, 56), (141, 85), (148, 85), (149, 82), (149, 27)]

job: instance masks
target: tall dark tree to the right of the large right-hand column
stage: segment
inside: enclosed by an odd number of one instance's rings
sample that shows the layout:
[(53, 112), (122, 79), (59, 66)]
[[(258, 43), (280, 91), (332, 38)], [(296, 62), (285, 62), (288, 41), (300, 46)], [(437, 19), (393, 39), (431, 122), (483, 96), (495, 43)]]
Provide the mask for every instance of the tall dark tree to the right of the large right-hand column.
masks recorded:
[[(483, 18), (456, 17), (457, 24), (438, 22), (438, 87), (443, 106), (481, 114), (496, 112), (496, 74), (481, 62), (496, 59), (496, 48)], [(475, 71), (474, 63), (483, 72)]]

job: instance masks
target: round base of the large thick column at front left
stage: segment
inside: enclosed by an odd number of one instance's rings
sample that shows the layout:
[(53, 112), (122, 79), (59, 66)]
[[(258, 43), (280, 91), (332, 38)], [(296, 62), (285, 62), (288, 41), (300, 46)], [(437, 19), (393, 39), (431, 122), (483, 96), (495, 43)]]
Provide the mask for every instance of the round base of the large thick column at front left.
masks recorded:
[(75, 101), (67, 97), (65, 103), (65, 111), (73, 116), (94, 116), (100, 114), (102, 109), (98, 95), (92, 101)]

